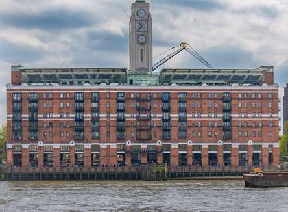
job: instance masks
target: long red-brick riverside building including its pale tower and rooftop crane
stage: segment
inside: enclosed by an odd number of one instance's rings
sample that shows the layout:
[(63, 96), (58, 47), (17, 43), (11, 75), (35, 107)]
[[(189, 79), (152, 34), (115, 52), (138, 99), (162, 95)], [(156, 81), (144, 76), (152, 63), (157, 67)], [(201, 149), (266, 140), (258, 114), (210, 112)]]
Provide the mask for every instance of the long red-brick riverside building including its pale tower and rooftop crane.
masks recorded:
[[(128, 30), (129, 69), (11, 66), (8, 166), (279, 164), (272, 66), (215, 69), (186, 43), (154, 63), (145, 0)], [(181, 51), (204, 68), (160, 68)]]

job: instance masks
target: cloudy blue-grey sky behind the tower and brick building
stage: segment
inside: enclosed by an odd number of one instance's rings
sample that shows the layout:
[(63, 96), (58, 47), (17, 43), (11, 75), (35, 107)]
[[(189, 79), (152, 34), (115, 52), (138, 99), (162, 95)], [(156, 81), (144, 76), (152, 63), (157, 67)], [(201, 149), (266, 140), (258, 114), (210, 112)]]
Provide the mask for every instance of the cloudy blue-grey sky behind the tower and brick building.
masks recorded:
[[(0, 123), (10, 66), (128, 68), (132, 0), (1, 0)], [(274, 66), (288, 83), (287, 0), (150, 0), (154, 55), (189, 43), (215, 68)], [(164, 56), (164, 55), (162, 55)], [(155, 57), (157, 62), (161, 57)], [(165, 68), (205, 68), (182, 52)], [(281, 94), (283, 93), (281, 89)]]

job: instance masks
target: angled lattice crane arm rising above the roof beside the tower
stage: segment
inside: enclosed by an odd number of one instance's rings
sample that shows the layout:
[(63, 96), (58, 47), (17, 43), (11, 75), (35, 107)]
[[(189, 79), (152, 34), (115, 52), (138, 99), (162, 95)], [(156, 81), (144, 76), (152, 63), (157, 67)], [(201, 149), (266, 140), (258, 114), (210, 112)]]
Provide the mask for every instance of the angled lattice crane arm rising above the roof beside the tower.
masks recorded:
[[(172, 48), (173, 49), (173, 48)], [(207, 66), (210, 69), (213, 69), (213, 66), (211, 66), (211, 64), (209, 64), (206, 59), (204, 59), (199, 53), (197, 53), (197, 51), (195, 51), (195, 49), (193, 49), (189, 44), (187, 44), (186, 42), (182, 42), (179, 46), (179, 49), (177, 49), (176, 51), (173, 51), (171, 54), (167, 55), (166, 57), (164, 57), (163, 59), (161, 59), (160, 61), (158, 61), (156, 64), (154, 64), (154, 66), (152, 66), (152, 70), (156, 70), (156, 68), (158, 68), (159, 66), (162, 66), (163, 64), (165, 64), (165, 62), (167, 62), (169, 59), (171, 59), (172, 57), (178, 55), (178, 53), (180, 53), (181, 51), (186, 50), (189, 54), (191, 54), (193, 57), (195, 57), (197, 60), (199, 60), (200, 62), (202, 62), (202, 64), (204, 64), (205, 66)]]

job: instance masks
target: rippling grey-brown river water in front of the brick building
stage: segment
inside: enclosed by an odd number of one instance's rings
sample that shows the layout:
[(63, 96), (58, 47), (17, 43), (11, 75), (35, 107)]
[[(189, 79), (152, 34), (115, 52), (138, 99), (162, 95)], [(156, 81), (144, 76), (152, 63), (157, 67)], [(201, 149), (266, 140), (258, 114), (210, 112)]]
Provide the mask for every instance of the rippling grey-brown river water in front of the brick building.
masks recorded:
[(2, 181), (0, 211), (288, 211), (288, 188), (243, 181)]

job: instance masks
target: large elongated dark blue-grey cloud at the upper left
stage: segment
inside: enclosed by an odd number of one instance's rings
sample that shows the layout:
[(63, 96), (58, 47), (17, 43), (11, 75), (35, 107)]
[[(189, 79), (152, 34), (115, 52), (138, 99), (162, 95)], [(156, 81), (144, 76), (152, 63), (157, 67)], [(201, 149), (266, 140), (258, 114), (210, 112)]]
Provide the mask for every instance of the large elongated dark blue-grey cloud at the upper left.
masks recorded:
[(62, 30), (88, 27), (95, 23), (90, 14), (65, 8), (50, 8), (43, 11), (2, 12), (0, 23), (22, 29)]

